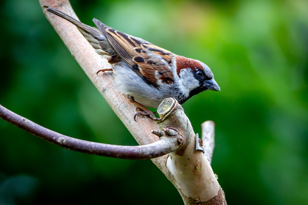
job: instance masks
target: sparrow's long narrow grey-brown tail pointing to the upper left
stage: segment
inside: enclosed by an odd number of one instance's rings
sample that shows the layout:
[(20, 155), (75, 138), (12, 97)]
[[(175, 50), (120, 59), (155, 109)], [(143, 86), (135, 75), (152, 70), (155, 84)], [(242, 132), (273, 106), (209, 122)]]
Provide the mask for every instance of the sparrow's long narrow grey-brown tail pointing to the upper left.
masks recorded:
[(104, 37), (103, 34), (98, 29), (92, 26), (88, 26), (55, 8), (52, 8), (50, 6), (43, 6), (43, 7), (46, 8), (47, 11), (56, 14), (57, 16), (64, 18), (65, 20), (74, 24), (80, 31), (80, 33), (87, 39), (87, 41), (93, 46), (93, 48), (99, 55), (107, 57), (114, 52), (113, 48), (109, 44), (106, 37)]

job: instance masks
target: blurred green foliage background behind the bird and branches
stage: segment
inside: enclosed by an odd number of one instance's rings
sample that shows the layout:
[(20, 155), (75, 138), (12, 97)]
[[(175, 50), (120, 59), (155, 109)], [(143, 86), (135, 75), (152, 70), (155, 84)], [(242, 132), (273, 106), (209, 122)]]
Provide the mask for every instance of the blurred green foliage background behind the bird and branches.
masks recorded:
[[(136, 145), (43, 15), (0, 3), (0, 103), (62, 134)], [(308, 204), (308, 1), (73, 1), (97, 18), (205, 62), (221, 92), (183, 104), (216, 124), (212, 167), (228, 204)], [(0, 204), (183, 204), (150, 160), (81, 154), (0, 120)]]

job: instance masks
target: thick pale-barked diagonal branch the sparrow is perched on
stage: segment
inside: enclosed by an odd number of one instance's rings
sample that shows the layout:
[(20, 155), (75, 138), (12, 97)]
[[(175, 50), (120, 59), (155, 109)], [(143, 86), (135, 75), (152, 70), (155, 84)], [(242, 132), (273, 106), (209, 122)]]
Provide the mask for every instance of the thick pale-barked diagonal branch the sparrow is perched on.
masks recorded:
[[(55, 7), (78, 19), (68, 0), (39, 0), (39, 2), (41, 6)], [(43, 9), (43, 12), (70, 50), (72, 56), (128, 128), (138, 144), (145, 145), (156, 142), (159, 137), (152, 134), (151, 131), (165, 128), (172, 128), (172, 132), (183, 138), (183, 146), (179, 150), (169, 155), (152, 159), (152, 162), (174, 184), (180, 192), (184, 203), (226, 204), (225, 195), (207, 160), (209, 156), (195, 149), (195, 134), (181, 106), (176, 103), (173, 112), (158, 123), (148, 117), (138, 117), (134, 121), (133, 116), (136, 112), (136, 107), (113, 87), (112, 75), (108, 73), (96, 75), (98, 70), (110, 68), (107, 60), (100, 58), (95, 53), (75, 26), (48, 13), (45, 9)]]

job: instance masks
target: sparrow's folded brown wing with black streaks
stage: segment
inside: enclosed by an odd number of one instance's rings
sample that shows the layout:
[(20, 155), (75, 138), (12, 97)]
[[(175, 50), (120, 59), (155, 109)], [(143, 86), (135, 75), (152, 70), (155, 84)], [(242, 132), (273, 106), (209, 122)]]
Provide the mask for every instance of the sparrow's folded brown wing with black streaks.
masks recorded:
[[(95, 22), (116, 53), (148, 84), (158, 87), (173, 83), (171, 62), (174, 55), (165, 49)], [(137, 68), (138, 69), (137, 69)]]

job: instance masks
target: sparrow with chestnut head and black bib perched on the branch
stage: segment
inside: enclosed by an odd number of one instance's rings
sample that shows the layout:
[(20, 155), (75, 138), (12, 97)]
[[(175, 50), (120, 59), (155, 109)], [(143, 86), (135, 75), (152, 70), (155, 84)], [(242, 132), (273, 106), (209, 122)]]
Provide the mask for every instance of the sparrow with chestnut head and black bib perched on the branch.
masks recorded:
[(100, 71), (113, 72), (115, 86), (143, 110), (139, 115), (157, 119), (146, 107), (157, 108), (168, 97), (183, 104), (204, 90), (220, 91), (211, 69), (201, 61), (176, 55), (95, 18), (93, 22), (98, 29), (55, 8), (43, 7), (74, 24), (96, 53), (108, 59), (112, 69)]

